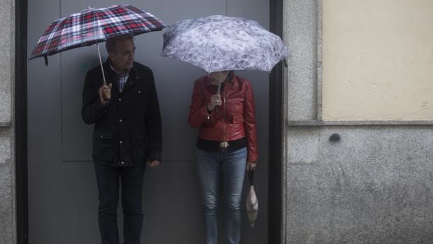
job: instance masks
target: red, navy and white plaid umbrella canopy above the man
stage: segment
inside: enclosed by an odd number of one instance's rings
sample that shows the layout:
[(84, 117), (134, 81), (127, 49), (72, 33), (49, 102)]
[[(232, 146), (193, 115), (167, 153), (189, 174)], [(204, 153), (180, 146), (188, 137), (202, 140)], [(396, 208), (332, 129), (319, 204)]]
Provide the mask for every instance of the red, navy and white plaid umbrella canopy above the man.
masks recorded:
[(167, 27), (155, 15), (130, 5), (88, 8), (55, 20), (39, 38), (30, 59), (106, 41), (112, 36), (132, 36)]

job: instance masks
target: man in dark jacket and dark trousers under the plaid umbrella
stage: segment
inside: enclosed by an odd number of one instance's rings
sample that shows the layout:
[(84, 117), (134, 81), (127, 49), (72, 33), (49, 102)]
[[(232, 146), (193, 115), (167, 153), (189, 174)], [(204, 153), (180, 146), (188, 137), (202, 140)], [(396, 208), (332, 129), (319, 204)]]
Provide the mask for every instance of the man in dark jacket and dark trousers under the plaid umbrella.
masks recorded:
[(103, 244), (118, 244), (117, 208), (122, 183), (124, 243), (139, 244), (141, 196), (146, 160), (161, 161), (161, 115), (152, 71), (134, 62), (132, 36), (106, 41), (108, 60), (87, 72), (81, 113), (94, 124), (93, 153), (99, 190), (99, 230)]

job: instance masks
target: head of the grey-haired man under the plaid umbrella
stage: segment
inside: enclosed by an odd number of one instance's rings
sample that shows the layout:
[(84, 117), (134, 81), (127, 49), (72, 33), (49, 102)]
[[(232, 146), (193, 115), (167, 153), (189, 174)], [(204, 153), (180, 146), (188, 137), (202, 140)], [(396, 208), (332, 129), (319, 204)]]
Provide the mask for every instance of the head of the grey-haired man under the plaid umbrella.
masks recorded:
[(115, 43), (115, 50), (108, 53), (111, 65), (118, 71), (129, 71), (134, 65), (134, 52), (134, 41), (118, 40)]

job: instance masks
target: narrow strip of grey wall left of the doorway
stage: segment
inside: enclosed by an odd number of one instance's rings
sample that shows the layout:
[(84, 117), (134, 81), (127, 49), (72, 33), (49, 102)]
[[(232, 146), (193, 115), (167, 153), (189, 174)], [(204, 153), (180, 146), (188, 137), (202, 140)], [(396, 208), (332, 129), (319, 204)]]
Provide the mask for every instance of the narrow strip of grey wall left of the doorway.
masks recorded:
[(0, 243), (15, 243), (15, 1), (0, 1)]

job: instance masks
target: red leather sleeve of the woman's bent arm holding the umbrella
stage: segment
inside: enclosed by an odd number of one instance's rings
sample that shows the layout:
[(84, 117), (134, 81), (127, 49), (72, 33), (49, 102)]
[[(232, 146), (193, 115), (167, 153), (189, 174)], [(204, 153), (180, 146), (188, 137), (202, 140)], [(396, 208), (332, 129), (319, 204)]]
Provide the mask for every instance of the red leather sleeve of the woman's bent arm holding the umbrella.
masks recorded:
[(192, 90), (190, 115), (188, 116), (190, 127), (197, 128), (206, 122), (209, 115), (207, 103), (208, 101), (204, 101), (204, 94), (201, 92), (199, 80), (196, 80)]

